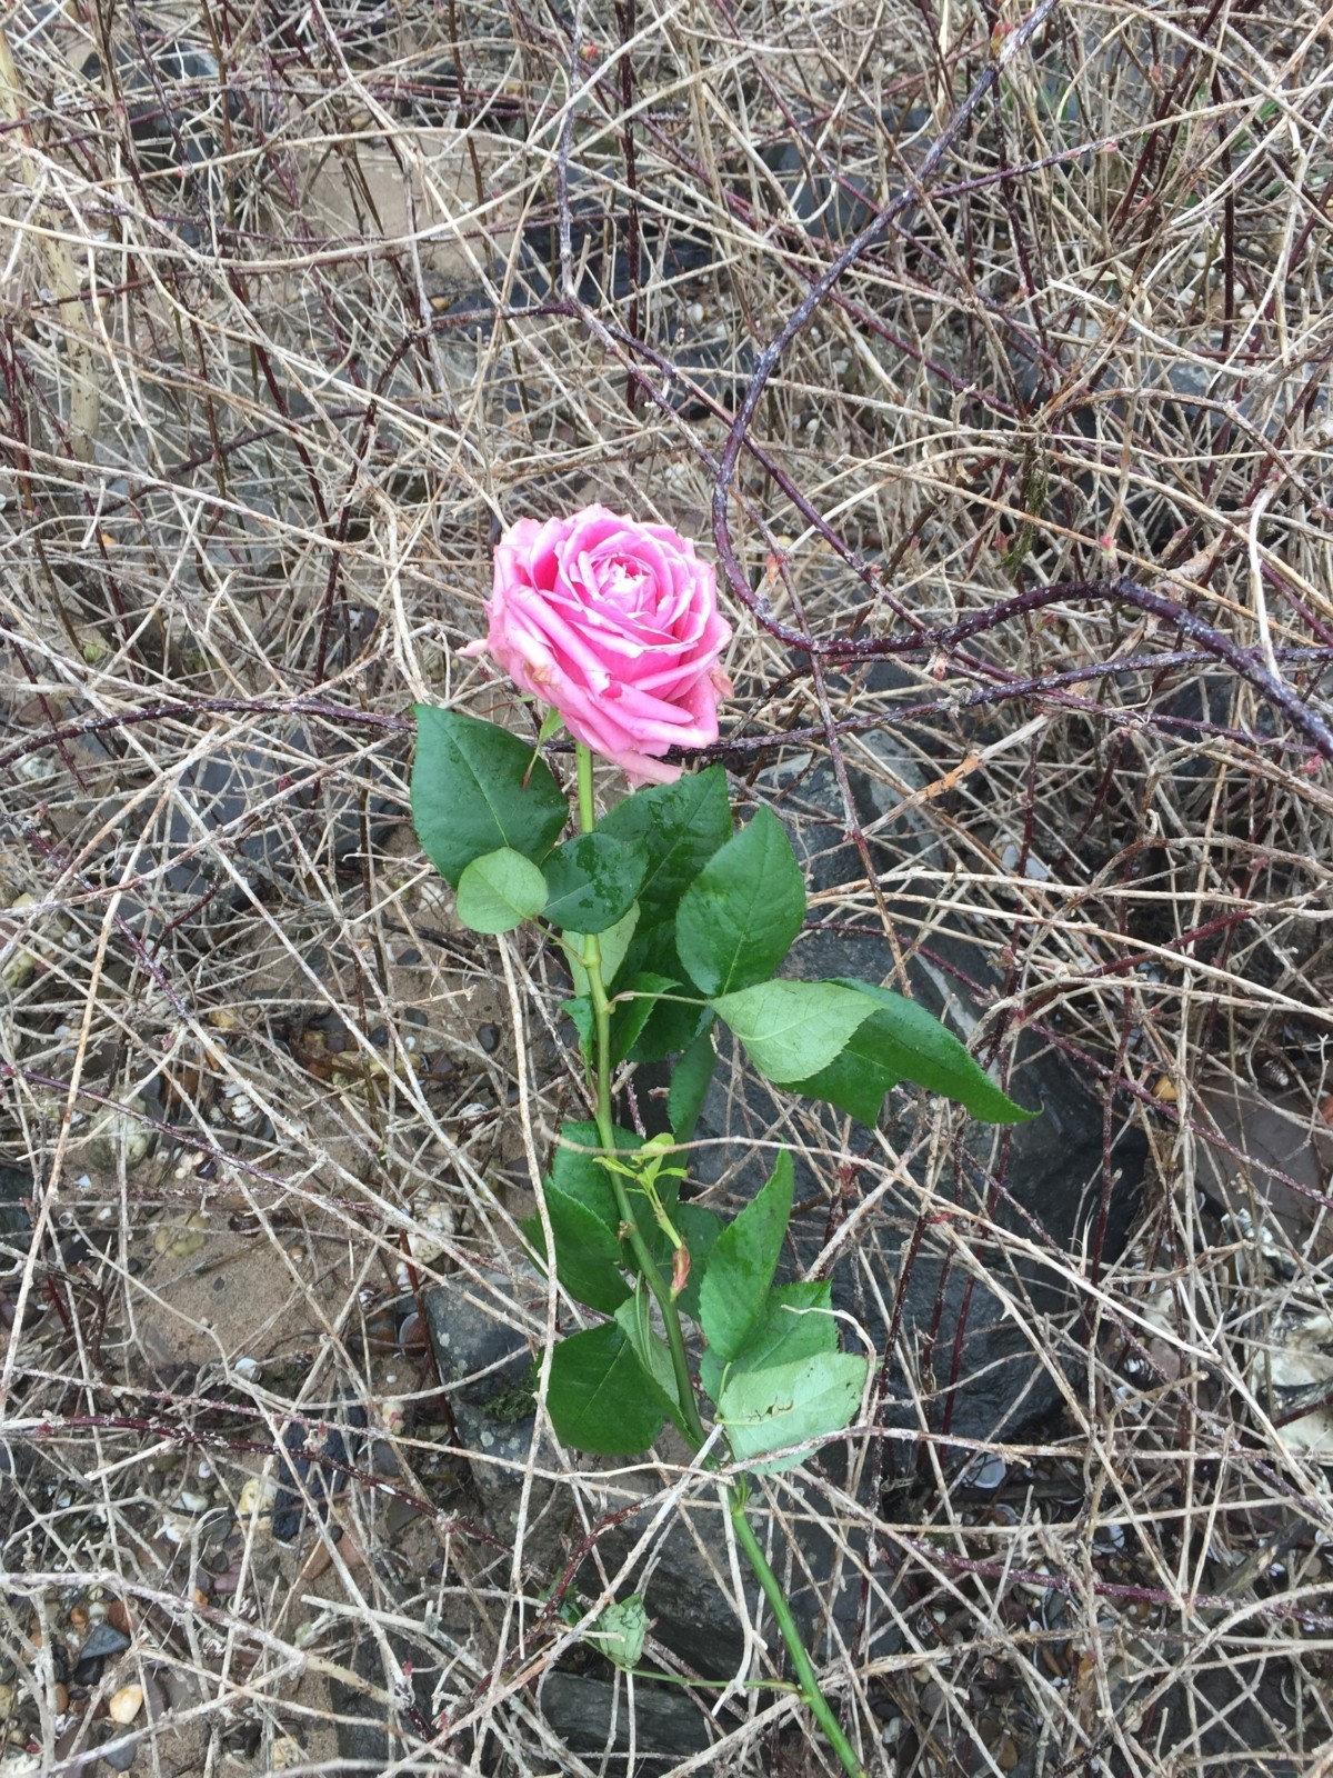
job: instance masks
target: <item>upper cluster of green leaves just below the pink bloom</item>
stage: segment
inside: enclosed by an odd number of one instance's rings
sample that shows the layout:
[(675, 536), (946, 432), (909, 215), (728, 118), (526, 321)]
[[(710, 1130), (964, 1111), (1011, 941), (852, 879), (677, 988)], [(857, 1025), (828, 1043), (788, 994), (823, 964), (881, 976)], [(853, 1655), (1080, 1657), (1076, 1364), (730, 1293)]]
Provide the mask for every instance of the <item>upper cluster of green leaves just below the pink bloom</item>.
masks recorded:
[(775, 1086), (825, 1099), (873, 1125), (901, 1081), (974, 1117), (1031, 1117), (915, 1001), (871, 981), (778, 976), (805, 923), (805, 882), (768, 809), (732, 832), (727, 779), (709, 766), (617, 804), (590, 834), (556, 845), (569, 804), (544, 759), (508, 731), (418, 708), (412, 816), (475, 932), (542, 919), (569, 958), (585, 1053), (592, 1008), (587, 939), (611, 992), (611, 1060), (681, 1056), (672, 1127), (688, 1140), (725, 1024)]

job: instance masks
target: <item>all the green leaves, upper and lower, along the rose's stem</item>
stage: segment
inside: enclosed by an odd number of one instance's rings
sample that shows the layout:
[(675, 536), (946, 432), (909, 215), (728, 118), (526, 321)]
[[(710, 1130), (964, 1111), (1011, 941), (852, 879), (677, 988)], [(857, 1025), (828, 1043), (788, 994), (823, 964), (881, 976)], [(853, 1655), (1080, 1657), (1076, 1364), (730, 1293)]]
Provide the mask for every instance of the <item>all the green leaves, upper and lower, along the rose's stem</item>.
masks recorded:
[[(791, 1156), (778, 1154), (732, 1221), (679, 1198), (684, 1168), (670, 1159), (707, 1097), (716, 1026), (773, 1085), (866, 1124), (899, 1081), (992, 1122), (1031, 1113), (914, 1001), (855, 978), (778, 974), (805, 925), (805, 880), (771, 811), (732, 829), (722, 766), (640, 789), (560, 843), (569, 805), (540, 754), (473, 717), (418, 709), (412, 813), (466, 925), (501, 933), (540, 919), (562, 944), (574, 983), (565, 1010), (590, 1072), (601, 1069), (599, 1124), (562, 1127), (544, 1181), (553, 1252), (540, 1220), (524, 1230), (565, 1291), (606, 1317), (553, 1353), (558, 1435), (631, 1456), (670, 1421), (697, 1442), (686, 1316), (734, 1462), (800, 1462), (851, 1422), (867, 1360), (841, 1351), (826, 1280), (777, 1282)], [(611, 1129), (606, 1069), (668, 1056), (674, 1140)]]

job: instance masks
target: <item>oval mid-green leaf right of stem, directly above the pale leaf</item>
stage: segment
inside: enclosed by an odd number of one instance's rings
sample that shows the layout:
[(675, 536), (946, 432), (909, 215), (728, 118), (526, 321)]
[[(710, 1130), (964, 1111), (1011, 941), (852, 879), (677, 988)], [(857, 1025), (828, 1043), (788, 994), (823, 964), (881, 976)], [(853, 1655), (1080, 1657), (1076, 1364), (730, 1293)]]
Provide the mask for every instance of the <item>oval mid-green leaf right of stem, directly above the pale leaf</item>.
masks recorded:
[(805, 919), (805, 882), (787, 830), (761, 809), (681, 896), (675, 949), (702, 994), (768, 981)]

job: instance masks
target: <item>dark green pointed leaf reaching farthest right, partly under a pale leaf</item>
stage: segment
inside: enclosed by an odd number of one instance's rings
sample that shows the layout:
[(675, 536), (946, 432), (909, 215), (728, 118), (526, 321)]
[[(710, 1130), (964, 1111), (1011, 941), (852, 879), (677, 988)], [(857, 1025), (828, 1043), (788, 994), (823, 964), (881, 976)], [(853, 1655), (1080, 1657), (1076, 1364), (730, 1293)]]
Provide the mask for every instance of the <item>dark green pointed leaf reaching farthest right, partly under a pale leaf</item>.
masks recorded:
[(828, 1099), (869, 1125), (880, 1117), (883, 1095), (899, 1081), (944, 1093), (983, 1124), (1026, 1124), (1040, 1115), (1002, 1093), (953, 1031), (924, 1006), (871, 981), (846, 978), (839, 987), (866, 994), (876, 1010), (846, 1051), (800, 1081), (794, 1092)]

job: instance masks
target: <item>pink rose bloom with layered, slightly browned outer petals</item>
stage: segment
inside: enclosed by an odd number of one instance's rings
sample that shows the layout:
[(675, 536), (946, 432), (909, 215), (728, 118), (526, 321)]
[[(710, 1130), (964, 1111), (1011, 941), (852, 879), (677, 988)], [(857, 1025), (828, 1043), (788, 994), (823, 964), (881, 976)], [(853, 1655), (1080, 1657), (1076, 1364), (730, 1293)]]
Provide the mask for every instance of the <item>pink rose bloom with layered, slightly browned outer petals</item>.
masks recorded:
[(713, 569), (670, 526), (606, 507), (519, 519), (496, 546), (485, 610), (487, 638), (464, 653), (489, 653), (633, 784), (681, 775), (661, 763), (668, 747), (716, 741), (730, 624)]

